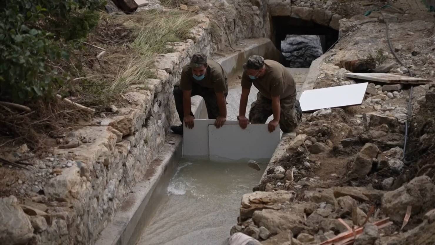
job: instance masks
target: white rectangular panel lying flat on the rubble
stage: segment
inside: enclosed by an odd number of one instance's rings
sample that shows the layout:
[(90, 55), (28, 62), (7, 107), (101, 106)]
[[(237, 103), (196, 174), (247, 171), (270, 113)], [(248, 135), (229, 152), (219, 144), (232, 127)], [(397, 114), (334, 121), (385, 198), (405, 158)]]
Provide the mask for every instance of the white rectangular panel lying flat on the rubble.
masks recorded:
[(368, 83), (306, 90), (299, 102), (302, 111), (361, 104)]

